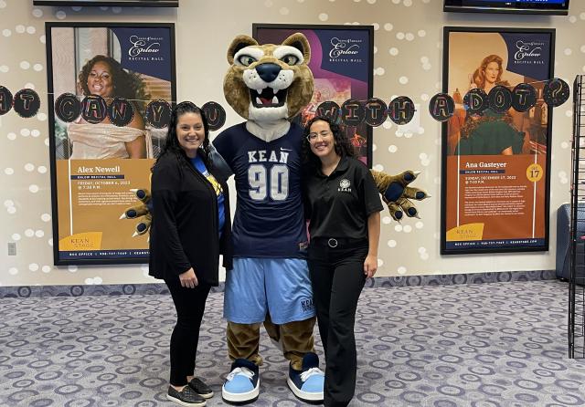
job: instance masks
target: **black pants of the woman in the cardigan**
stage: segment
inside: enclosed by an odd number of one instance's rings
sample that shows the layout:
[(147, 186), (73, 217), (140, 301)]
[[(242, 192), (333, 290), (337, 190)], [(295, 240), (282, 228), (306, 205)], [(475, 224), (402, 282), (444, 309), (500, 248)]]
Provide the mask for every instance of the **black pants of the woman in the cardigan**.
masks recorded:
[(199, 329), (210, 286), (181, 287), (179, 277), (165, 279), (176, 308), (176, 325), (171, 335), (171, 384), (185, 386), (195, 371)]

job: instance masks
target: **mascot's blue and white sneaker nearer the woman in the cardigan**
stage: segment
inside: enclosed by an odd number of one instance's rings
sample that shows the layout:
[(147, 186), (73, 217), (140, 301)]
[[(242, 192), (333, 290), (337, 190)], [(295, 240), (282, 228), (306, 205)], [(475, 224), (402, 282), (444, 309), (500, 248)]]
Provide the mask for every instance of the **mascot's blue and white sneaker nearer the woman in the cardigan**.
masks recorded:
[(221, 398), (231, 404), (254, 402), (260, 394), (258, 366), (246, 359), (237, 359), (221, 387)]

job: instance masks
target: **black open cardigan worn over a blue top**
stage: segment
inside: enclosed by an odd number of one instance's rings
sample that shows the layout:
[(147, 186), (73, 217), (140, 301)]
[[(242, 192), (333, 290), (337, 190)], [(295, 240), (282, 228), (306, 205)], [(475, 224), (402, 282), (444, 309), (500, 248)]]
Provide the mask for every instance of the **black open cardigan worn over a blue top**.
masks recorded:
[(153, 223), (150, 231), (149, 274), (177, 277), (193, 267), (198, 281), (218, 286), (219, 255), (231, 268), (229, 191), (213, 169), (208, 170), (223, 189), (226, 222), (218, 234), (218, 199), (211, 183), (190, 162), (165, 153), (153, 169)]

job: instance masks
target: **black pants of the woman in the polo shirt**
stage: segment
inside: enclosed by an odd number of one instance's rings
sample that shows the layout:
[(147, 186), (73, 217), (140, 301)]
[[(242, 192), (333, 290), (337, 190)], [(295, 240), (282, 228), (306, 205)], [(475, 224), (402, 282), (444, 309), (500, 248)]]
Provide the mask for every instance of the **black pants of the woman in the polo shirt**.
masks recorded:
[(357, 299), (366, 276), (367, 241), (329, 247), (315, 239), (309, 248), (317, 324), (325, 351), (324, 405), (346, 406), (356, 391)]

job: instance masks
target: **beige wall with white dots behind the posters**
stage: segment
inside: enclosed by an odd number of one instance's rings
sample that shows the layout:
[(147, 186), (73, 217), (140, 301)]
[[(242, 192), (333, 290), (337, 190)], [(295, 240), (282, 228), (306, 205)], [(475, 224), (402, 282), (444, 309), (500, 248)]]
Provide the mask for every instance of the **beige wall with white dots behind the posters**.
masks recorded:
[[(46, 21), (176, 23), (178, 99), (218, 100), (227, 125), (239, 116), (225, 102), (226, 47), (252, 23), (364, 24), (375, 31), (374, 96), (407, 95), (420, 103), (421, 134), (399, 137), (396, 126), (374, 130), (378, 170), (422, 171), (417, 185), (432, 198), (419, 204), (420, 220), (402, 225), (384, 214), (378, 276), (552, 269), (556, 208), (569, 201), (571, 105), (554, 112), (550, 197), (550, 251), (523, 255), (439, 254), (441, 126), (426, 103), (441, 89), (443, 26), (554, 27), (556, 76), (572, 83), (585, 71), (585, 2), (573, 0), (569, 16), (445, 14), (442, 0), (181, 0), (178, 10), (117, 7), (33, 7), (30, 0), (0, 0), (0, 85), (15, 92), (37, 89), (37, 118), (14, 111), (0, 117), (0, 285), (121, 284), (154, 282), (147, 266), (52, 266), (48, 159)], [(390, 146), (394, 146), (388, 150)], [(390, 152), (392, 151), (392, 152)], [(6, 245), (16, 241), (17, 256)]]

